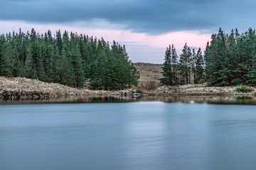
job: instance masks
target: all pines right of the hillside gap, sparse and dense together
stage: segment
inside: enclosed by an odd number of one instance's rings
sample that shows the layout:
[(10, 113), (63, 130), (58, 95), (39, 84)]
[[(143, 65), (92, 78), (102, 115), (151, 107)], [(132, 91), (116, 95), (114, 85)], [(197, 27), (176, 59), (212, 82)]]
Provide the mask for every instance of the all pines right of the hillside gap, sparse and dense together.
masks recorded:
[(255, 30), (249, 28), (245, 33), (238, 33), (235, 29), (225, 34), (220, 28), (218, 34), (211, 36), (204, 55), (200, 48), (198, 52), (191, 52), (185, 45), (178, 56), (174, 46), (169, 46), (166, 49), (163, 75), (162, 83), (169, 85), (198, 84), (206, 80), (210, 86), (255, 86)]

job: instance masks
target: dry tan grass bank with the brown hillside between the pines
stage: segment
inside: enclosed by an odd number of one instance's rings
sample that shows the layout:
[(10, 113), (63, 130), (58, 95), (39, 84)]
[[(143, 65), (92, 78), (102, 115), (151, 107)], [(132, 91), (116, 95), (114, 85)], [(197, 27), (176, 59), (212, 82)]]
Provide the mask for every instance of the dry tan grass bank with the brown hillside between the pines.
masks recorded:
[[(62, 84), (46, 83), (35, 79), (26, 79), (20, 77), (6, 78), (0, 77), (0, 97), (3, 94), (18, 94), (18, 96), (28, 95), (48, 95), (50, 98), (57, 96), (123, 96), (134, 92), (147, 95), (160, 96), (254, 96), (255, 88), (248, 93), (238, 93), (235, 89), (238, 86), (214, 87), (206, 84), (188, 84), (183, 86), (162, 86), (161, 64), (136, 63), (135, 67), (140, 72), (139, 85), (123, 91), (96, 91), (87, 88), (76, 89)], [(2, 95), (1, 95), (2, 94)]]

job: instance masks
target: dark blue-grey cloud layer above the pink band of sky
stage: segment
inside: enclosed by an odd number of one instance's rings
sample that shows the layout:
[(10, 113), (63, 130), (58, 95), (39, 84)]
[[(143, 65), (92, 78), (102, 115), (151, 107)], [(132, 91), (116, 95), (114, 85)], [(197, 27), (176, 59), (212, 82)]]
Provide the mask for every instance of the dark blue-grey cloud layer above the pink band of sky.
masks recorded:
[(171, 31), (207, 33), (255, 27), (253, 0), (2, 0), (0, 20), (31, 23), (80, 23), (91, 28), (129, 29), (159, 35)]

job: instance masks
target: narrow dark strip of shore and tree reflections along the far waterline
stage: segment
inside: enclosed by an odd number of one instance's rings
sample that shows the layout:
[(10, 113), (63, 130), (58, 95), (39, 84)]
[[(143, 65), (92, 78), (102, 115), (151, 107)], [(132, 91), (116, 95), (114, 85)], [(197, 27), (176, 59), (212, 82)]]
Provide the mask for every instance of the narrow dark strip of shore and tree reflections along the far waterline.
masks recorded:
[[(20, 100), (21, 101), (21, 100)], [(166, 103), (220, 103), (220, 104), (256, 104), (256, 97), (245, 96), (146, 96), (132, 98), (124, 96), (70, 96), (43, 100), (22, 100), (22, 103), (123, 103), (139, 101), (162, 101)], [(17, 101), (2, 101), (13, 103)]]

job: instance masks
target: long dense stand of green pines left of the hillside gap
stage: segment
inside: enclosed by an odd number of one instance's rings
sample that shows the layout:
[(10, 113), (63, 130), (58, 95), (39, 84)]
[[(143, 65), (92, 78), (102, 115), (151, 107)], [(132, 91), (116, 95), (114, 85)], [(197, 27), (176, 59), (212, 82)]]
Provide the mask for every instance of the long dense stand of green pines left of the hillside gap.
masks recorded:
[(139, 79), (125, 46), (60, 30), (0, 35), (0, 68), (1, 76), (91, 89), (125, 89)]

